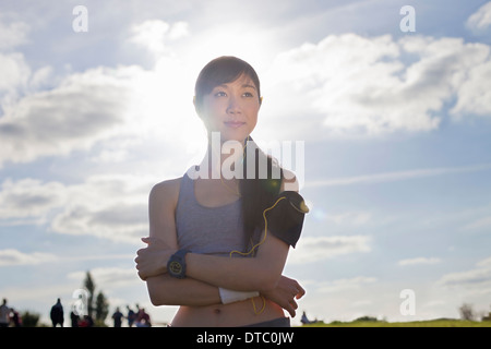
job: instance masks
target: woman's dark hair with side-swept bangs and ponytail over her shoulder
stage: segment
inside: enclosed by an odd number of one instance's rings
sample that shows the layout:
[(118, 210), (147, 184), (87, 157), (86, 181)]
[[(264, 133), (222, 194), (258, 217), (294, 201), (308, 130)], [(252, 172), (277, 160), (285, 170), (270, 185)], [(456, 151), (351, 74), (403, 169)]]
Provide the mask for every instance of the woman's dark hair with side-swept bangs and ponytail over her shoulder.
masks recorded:
[[(231, 83), (242, 74), (252, 80), (258, 89), (258, 96), (261, 98), (261, 84), (255, 70), (239, 58), (224, 56), (212, 60), (200, 72), (194, 89), (196, 109), (200, 110), (202, 108), (204, 96), (212, 93), (213, 88)], [(254, 231), (264, 229), (263, 212), (274, 204), (282, 184), (283, 170), (277, 161), (255, 145), (251, 136), (248, 137), (246, 146), (243, 179), (240, 180), (239, 189), (242, 198), (244, 239), (246, 245), (248, 245), (251, 238), (253, 238)], [(247, 165), (250, 163), (248, 161), (248, 155), (252, 154), (254, 154), (255, 171), (253, 178), (250, 178), (251, 176), (247, 176)], [(267, 164), (267, 173), (261, 173), (264, 169), (260, 168), (260, 165), (264, 163)], [(279, 173), (279, 178), (275, 178), (278, 177), (276, 173)]]

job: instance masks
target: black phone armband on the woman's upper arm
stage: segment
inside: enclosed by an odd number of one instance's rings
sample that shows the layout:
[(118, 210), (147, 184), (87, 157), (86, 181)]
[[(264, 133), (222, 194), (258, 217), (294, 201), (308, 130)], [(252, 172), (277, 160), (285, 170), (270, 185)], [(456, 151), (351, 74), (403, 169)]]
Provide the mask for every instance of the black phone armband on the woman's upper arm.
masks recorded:
[[(295, 248), (303, 227), (303, 218), (309, 212), (303, 197), (294, 191), (279, 193), (276, 206), (265, 212), (267, 230), (276, 238)], [(267, 209), (267, 208), (266, 208)]]

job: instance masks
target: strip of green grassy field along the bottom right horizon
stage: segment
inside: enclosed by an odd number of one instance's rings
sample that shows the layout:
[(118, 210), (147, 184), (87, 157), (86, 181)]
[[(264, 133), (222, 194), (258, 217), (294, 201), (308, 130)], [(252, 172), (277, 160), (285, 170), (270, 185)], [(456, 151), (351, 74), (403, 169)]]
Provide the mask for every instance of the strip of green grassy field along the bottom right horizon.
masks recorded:
[(465, 321), (465, 320), (450, 320), (439, 318), (429, 321), (414, 321), (404, 323), (390, 323), (384, 321), (354, 321), (332, 322), (324, 324), (323, 322), (312, 325), (304, 325), (302, 327), (491, 327), (491, 321)]

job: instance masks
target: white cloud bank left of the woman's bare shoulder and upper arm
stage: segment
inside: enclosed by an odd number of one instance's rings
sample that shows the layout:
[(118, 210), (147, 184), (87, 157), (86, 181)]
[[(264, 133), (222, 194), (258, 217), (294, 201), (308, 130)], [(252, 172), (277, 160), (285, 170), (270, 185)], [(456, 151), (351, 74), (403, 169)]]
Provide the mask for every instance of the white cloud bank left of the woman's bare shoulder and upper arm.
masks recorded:
[(80, 184), (5, 180), (0, 224), (49, 224), (51, 231), (137, 242), (148, 233), (147, 200), (154, 183), (136, 176), (91, 177)]

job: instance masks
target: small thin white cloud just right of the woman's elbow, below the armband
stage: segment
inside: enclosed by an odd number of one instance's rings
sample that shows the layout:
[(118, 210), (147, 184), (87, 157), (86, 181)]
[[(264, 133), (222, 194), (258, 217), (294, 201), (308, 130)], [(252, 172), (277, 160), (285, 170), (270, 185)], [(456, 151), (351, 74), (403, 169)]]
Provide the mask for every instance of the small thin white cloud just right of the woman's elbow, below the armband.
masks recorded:
[(288, 254), (288, 265), (304, 264), (332, 258), (343, 254), (370, 252), (370, 237), (306, 237)]

